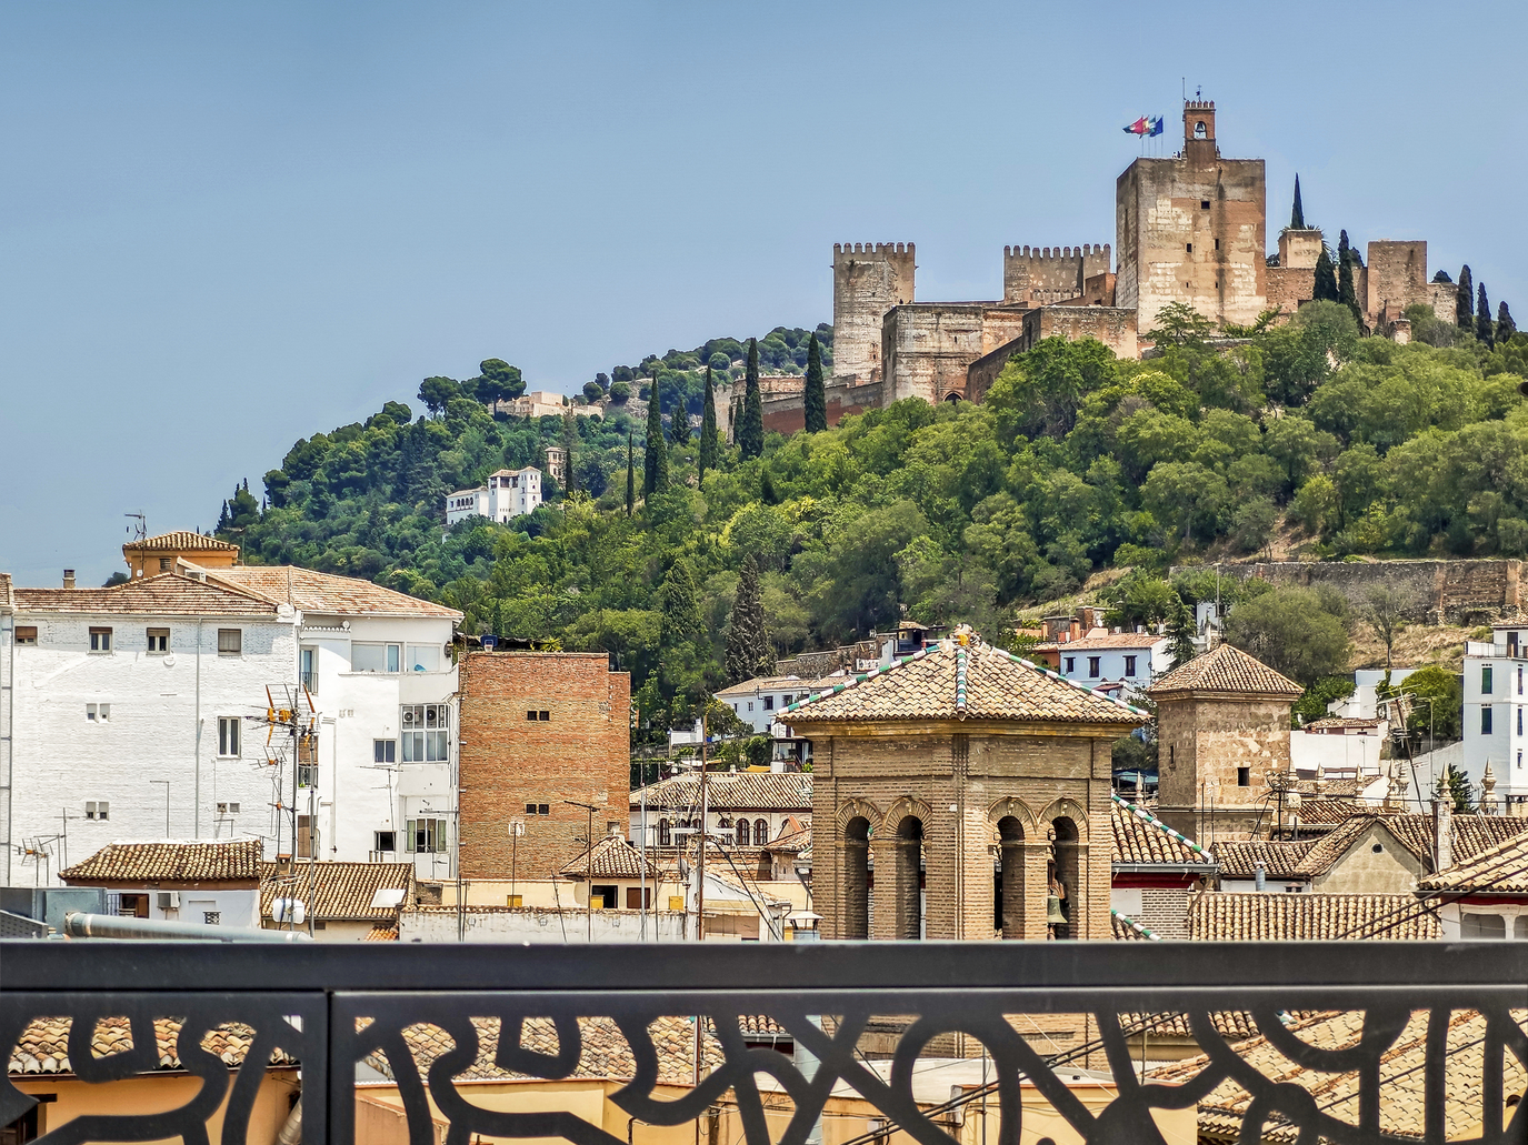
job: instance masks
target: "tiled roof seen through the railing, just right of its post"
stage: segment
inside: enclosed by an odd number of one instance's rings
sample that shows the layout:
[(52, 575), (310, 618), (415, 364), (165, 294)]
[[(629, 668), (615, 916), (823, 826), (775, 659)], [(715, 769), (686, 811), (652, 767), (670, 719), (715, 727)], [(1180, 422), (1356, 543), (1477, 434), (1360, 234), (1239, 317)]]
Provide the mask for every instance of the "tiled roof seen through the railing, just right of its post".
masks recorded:
[[(458, 1078), (492, 1079), (492, 1078), (524, 1078), (526, 1073), (507, 1070), (497, 1063), (498, 1056), (498, 1018), (472, 1018), (477, 1032), (478, 1053), (471, 1066), (457, 1073)], [(614, 1018), (579, 1018), (581, 1050), (578, 1066), (567, 1075), (570, 1078), (610, 1078), (628, 1081), (636, 1076), (636, 1058), (626, 1037), (620, 1032)], [(695, 1078), (695, 1027), (686, 1018), (663, 1017), (648, 1026), (652, 1046), (657, 1050), (657, 1079), (668, 1084), (689, 1085)], [(439, 1026), (414, 1024), (403, 1030), (403, 1043), (408, 1046), (419, 1064), (419, 1072), (428, 1075), (431, 1063), (443, 1053), (455, 1049), (455, 1038)], [(550, 1018), (524, 1018), (520, 1026), (520, 1047), (533, 1053), (555, 1056), (559, 1049), (556, 1027)], [(721, 1046), (711, 1035), (701, 1038), (701, 1073), (707, 1073), (723, 1061)], [(387, 1076), (393, 1076), (393, 1069), (380, 1053), (368, 1058), (368, 1063)]]

